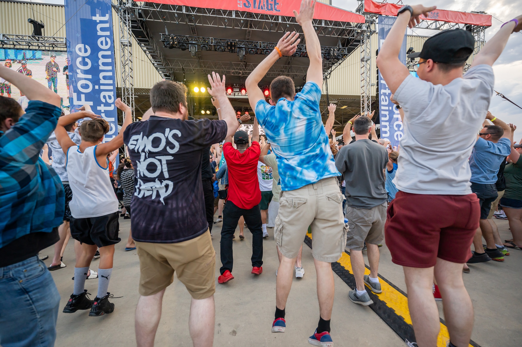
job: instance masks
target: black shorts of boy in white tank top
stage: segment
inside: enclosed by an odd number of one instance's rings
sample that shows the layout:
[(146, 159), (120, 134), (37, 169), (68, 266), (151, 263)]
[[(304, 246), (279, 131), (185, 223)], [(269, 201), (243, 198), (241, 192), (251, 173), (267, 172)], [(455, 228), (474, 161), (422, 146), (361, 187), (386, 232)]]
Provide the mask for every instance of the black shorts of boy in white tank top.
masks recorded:
[(89, 218), (70, 219), (70, 235), (73, 239), (98, 247), (110, 246), (121, 241), (118, 238), (120, 231), (119, 212), (109, 215)]

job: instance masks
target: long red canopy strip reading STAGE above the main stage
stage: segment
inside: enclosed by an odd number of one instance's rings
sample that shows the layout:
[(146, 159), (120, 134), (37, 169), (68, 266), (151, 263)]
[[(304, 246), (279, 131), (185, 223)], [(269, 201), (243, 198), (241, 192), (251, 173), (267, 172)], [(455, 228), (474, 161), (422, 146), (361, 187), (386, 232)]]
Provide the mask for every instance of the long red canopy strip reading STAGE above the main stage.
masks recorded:
[[(301, 0), (149, 0), (149, 2), (290, 17), (294, 16), (293, 10), (299, 11), (301, 7)], [(366, 21), (364, 16), (319, 2), (315, 5), (314, 18), (351, 23)]]

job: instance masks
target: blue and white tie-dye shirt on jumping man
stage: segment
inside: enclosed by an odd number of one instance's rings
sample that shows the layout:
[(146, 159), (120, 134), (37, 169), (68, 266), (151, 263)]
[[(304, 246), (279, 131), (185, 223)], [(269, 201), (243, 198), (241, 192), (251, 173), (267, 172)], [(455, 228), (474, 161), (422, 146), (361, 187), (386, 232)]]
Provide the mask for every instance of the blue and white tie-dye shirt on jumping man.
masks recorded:
[(276, 106), (259, 100), (255, 114), (277, 156), (281, 190), (295, 190), (323, 178), (340, 176), (321, 120), (321, 89), (307, 82), (294, 101)]

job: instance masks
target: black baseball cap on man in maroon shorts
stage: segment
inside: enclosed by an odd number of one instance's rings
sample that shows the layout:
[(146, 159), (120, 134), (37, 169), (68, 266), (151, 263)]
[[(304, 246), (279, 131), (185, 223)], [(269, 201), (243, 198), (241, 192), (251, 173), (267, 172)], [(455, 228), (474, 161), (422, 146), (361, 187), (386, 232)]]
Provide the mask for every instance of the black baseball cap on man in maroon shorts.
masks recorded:
[[(474, 48), (475, 39), (469, 31), (448, 29), (431, 36), (424, 42), (421, 52), (408, 54), (408, 58), (432, 59), (435, 63), (463, 63)], [(459, 49), (464, 52), (457, 54)]]

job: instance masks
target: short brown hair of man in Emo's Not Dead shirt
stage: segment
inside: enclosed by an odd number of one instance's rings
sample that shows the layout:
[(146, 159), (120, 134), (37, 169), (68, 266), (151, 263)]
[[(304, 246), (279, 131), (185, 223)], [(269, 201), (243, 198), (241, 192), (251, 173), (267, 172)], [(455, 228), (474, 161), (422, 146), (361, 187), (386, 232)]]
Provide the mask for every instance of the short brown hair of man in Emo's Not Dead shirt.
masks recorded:
[(159, 81), (150, 90), (150, 105), (152, 111), (177, 113), (180, 103), (187, 107), (187, 87), (185, 84), (173, 81)]

